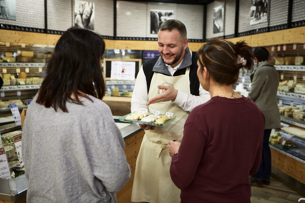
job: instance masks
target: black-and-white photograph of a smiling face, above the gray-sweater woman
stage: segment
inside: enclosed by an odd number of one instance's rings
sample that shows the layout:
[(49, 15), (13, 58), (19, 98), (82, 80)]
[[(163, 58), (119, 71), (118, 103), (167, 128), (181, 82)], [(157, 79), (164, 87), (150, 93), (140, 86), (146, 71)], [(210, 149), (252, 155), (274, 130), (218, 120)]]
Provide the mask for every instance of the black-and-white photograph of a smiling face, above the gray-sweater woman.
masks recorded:
[(94, 3), (74, 0), (75, 26), (94, 30)]

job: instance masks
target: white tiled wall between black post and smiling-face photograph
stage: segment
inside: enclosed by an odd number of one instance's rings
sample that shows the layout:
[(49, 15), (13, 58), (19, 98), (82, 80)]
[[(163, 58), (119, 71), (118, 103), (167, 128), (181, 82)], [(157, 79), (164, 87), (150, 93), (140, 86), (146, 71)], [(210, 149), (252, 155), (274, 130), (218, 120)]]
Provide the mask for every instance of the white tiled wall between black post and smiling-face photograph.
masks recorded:
[(48, 0), (48, 29), (65, 31), (71, 27), (73, 24), (72, 8), (71, 0)]

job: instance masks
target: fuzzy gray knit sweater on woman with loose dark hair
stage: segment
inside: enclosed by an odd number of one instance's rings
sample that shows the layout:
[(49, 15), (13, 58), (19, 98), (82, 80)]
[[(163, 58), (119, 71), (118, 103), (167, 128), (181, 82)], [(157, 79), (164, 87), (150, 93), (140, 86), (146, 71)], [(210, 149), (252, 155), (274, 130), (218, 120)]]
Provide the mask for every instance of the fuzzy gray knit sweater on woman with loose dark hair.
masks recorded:
[(109, 107), (90, 96), (69, 113), (37, 104), (28, 107), (22, 154), (29, 180), (27, 202), (117, 202), (129, 180), (125, 144)]

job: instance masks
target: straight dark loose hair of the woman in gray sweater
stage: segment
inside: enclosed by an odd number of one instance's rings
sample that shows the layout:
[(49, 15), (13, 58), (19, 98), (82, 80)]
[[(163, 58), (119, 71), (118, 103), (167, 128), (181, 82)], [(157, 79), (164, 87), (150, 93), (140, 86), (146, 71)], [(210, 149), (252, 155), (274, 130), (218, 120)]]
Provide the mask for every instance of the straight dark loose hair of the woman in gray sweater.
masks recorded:
[[(69, 28), (59, 38), (46, 65), (46, 77), (36, 103), (68, 112), (66, 102), (83, 105), (77, 95), (89, 100), (87, 95), (102, 99), (105, 83), (100, 59), (104, 51), (105, 42), (97, 33), (79, 27)], [(75, 99), (71, 98), (72, 93)]]

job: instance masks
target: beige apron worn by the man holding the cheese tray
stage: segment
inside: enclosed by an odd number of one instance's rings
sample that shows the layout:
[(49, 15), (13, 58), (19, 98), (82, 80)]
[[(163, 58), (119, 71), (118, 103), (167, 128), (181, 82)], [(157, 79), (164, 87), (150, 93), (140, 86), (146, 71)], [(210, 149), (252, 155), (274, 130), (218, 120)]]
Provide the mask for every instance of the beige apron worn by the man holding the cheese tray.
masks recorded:
[[(154, 73), (150, 83), (148, 99), (162, 93), (158, 85), (172, 85), (175, 89), (190, 94), (189, 67), (185, 75), (167, 76)], [(135, 168), (131, 201), (150, 203), (180, 203), (180, 189), (170, 178), (171, 157), (168, 153), (169, 140), (181, 142), (184, 123), (189, 112), (171, 101), (149, 105), (149, 112), (174, 113), (176, 120), (165, 127), (145, 131)]]

